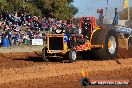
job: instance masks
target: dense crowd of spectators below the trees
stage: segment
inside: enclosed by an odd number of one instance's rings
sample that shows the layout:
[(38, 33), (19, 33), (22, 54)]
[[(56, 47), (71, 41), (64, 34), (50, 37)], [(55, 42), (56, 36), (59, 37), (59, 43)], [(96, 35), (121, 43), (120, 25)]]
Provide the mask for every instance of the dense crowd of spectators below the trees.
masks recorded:
[(32, 39), (45, 40), (46, 31), (54, 33), (58, 28), (76, 28), (78, 25), (67, 20), (50, 17), (31, 16), (27, 13), (1, 14), (0, 43), (7, 39), (9, 46), (18, 44), (31, 45)]

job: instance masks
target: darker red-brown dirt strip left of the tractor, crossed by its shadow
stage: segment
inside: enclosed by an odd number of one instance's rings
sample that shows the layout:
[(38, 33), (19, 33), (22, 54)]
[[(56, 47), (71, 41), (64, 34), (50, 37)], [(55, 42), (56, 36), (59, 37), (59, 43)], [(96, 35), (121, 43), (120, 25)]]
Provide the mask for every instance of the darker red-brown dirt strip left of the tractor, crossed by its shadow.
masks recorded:
[(18, 68), (27, 67), (35, 64), (34, 62), (40, 62), (39, 58), (34, 52), (25, 53), (0, 53), (0, 69), (1, 68)]

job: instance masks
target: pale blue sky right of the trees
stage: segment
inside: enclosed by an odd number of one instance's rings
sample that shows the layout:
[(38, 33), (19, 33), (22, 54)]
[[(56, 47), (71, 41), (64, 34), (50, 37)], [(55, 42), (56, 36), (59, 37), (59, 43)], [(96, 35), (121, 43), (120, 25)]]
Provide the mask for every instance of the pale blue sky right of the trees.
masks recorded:
[[(118, 8), (119, 11), (123, 9), (124, 0), (109, 0), (107, 17), (113, 18), (114, 8)], [(132, 0), (129, 0), (130, 6), (132, 6)], [(95, 16), (98, 17), (97, 9), (106, 10), (107, 0), (74, 0), (74, 6), (79, 9), (79, 12), (75, 15), (76, 17), (82, 16)]]

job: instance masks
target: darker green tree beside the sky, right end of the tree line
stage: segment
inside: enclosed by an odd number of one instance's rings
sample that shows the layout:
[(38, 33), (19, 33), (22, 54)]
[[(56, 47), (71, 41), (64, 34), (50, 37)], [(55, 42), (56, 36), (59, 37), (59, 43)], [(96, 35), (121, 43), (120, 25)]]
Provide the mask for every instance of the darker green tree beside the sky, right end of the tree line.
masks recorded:
[(78, 12), (78, 9), (70, 4), (71, 2), (73, 0), (38, 0), (36, 6), (45, 16), (69, 19)]

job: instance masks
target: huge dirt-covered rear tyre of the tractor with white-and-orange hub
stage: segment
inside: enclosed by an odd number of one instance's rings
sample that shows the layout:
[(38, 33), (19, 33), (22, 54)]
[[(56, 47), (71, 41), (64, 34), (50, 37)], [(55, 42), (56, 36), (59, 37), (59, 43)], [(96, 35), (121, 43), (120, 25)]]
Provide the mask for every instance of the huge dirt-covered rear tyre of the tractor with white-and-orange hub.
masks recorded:
[(115, 30), (98, 30), (93, 35), (92, 44), (103, 45), (103, 48), (94, 49), (93, 54), (99, 59), (114, 59), (118, 52), (118, 37)]

